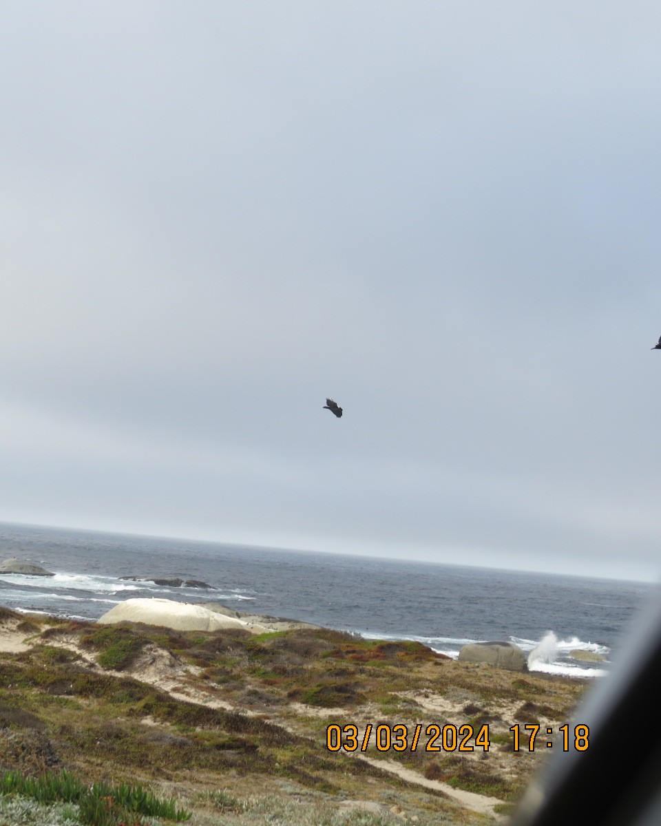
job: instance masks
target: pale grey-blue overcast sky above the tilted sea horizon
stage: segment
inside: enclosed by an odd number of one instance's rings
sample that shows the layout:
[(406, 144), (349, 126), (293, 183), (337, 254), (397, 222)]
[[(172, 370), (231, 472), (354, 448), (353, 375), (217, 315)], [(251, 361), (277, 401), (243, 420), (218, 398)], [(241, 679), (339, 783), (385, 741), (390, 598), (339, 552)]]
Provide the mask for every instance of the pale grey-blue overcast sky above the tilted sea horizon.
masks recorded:
[(2, 3), (0, 520), (658, 579), (660, 30)]

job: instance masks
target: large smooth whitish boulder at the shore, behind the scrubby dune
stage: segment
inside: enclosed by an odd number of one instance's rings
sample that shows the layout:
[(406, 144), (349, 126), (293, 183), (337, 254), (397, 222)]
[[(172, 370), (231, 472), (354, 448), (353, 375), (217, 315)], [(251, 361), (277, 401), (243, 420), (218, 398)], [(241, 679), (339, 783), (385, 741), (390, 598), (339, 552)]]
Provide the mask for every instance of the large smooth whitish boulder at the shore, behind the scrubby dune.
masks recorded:
[(97, 622), (113, 624), (118, 622), (141, 622), (145, 625), (162, 625), (177, 631), (219, 631), (221, 629), (243, 628), (253, 634), (262, 634), (268, 629), (246, 622), (244, 619), (216, 614), (202, 605), (174, 600), (132, 599), (115, 605)]

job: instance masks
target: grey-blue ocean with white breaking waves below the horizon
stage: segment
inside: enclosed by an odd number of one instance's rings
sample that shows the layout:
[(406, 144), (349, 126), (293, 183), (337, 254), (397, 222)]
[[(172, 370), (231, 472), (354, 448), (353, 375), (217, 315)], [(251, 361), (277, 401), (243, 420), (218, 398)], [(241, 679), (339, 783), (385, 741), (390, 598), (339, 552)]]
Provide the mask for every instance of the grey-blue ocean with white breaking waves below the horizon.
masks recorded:
[[(656, 586), (280, 548), (0, 524), (0, 561), (18, 557), (55, 577), (0, 575), (0, 605), (97, 619), (131, 597), (218, 601), (385, 639), (416, 639), (456, 657), (464, 643), (510, 640), (532, 671), (602, 676), (575, 648), (607, 658)], [(179, 577), (213, 591), (126, 582)]]

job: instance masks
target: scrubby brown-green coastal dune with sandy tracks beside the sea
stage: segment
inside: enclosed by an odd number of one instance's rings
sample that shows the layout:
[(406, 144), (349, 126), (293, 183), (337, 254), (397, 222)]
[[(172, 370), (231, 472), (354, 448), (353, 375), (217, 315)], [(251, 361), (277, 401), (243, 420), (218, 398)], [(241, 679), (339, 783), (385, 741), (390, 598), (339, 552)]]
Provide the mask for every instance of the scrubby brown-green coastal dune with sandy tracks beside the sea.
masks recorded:
[[(26, 648), (0, 653), (0, 774), (65, 770), (87, 786), (141, 786), (201, 826), (488, 822), (521, 795), (548, 757), (541, 732), (568, 722), (584, 689), (580, 681), (454, 662), (420, 643), (328, 629), (184, 633), (2, 609), (0, 631)], [(535, 752), (512, 750), (515, 723), (540, 724)], [(361, 752), (369, 724), (407, 725), (407, 749), (379, 750), (372, 736)], [(427, 750), (433, 724), (470, 725), (475, 735), (487, 725), (488, 751), (474, 736), (466, 743), (473, 751), (449, 750), (449, 741), (445, 751)], [(359, 748), (329, 751), (329, 725), (355, 725)], [(420, 783), (402, 780), (401, 768)], [(502, 805), (479, 814), (447, 790)], [(107, 808), (119, 805), (116, 794), (99, 796)], [(30, 806), (42, 807), (35, 823), (83, 822), (63, 805), (46, 805), (45, 814), (43, 802), (13, 791), (0, 797), (0, 824), (30, 822), (13, 811)], [(122, 810), (115, 823), (168, 822), (127, 816)]]

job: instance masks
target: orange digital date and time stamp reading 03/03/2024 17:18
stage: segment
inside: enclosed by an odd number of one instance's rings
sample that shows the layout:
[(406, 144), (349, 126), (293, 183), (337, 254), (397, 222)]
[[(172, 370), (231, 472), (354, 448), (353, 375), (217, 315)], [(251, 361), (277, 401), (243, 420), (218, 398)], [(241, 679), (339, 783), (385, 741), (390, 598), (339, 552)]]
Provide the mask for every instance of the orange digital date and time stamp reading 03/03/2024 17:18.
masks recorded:
[[(362, 729), (362, 727), (361, 727)], [(537, 739), (538, 733), (542, 737)], [(544, 729), (539, 724), (513, 725), (510, 727), (511, 746), (513, 752), (527, 751), (534, 752), (535, 749), (552, 748), (552, 740), (544, 739), (557, 733), (561, 736), (561, 745), (564, 752), (575, 749), (577, 752), (585, 752), (589, 746), (590, 729), (587, 725), (578, 724), (573, 727), (568, 724), (559, 726), (557, 729)], [(374, 725), (367, 723), (362, 730), (362, 737), (359, 733), (359, 726), (347, 724), (339, 726), (331, 724), (326, 729), (326, 748), (329, 752), (339, 752), (340, 748), (345, 752), (361, 751), (366, 752), (370, 738), (374, 738), (374, 746), (379, 752), (415, 752), (420, 748), (421, 752), (473, 752), (481, 748), (488, 752), (491, 744), (489, 738), (489, 725), (487, 723), (479, 729), (469, 723), (464, 725), (446, 724), (444, 726), (432, 723), (423, 731), (422, 724), (407, 726), (404, 724), (388, 725), (385, 723)], [(502, 743), (502, 734), (498, 735), (498, 743)]]

